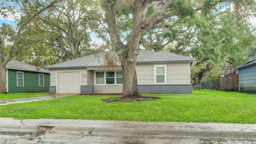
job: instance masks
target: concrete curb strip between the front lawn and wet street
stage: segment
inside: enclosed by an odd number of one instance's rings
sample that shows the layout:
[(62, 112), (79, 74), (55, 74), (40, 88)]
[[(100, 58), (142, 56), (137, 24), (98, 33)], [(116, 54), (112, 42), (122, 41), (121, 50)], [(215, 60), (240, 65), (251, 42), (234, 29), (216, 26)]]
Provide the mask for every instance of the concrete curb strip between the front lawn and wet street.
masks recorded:
[[(3, 121), (1, 121), (3, 120)], [(37, 133), (37, 126), (54, 126), (50, 133), (121, 137), (175, 137), (255, 140), (255, 124), (161, 123), (74, 119), (0, 118), (0, 134)]]

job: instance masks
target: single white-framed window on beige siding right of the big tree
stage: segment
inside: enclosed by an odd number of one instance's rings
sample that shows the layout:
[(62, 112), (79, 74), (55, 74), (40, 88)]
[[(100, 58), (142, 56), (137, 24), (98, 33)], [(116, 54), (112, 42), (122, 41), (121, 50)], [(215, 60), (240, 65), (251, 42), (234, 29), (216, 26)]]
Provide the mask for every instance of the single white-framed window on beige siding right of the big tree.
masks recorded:
[(156, 84), (166, 83), (166, 65), (155, 66), (155, 83)]

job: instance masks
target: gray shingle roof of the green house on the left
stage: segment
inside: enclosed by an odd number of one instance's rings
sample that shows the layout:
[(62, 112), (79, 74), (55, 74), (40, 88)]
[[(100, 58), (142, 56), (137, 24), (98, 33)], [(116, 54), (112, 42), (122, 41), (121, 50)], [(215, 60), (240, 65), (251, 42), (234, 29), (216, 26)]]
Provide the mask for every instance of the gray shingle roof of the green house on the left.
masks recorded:
[(20, 62), (18, 60), (11, 60), (7, 63), (6, 69), (17, 69), (17, 70), (26, 70), (26, 71), (36, 71), (40, 73), (50, 73), (49, 70), (38, 68), (27, 63)]

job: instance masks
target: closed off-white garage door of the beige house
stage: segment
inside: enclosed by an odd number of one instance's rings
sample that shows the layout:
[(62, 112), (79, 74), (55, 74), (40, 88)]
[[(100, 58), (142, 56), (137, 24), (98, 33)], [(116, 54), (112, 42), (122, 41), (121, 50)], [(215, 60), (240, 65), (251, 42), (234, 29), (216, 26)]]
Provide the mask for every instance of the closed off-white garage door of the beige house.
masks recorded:
[(57, 93), (80, 93), (80, 72), (58, 72)]

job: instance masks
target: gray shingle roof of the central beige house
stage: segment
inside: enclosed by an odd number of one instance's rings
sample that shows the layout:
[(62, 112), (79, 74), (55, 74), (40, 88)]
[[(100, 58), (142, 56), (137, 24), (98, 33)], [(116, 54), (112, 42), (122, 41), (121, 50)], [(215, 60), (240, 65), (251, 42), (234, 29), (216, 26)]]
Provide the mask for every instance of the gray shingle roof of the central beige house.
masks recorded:
[[(108, 51), (109, 52), (109, 51)], [(104, 65), (104, 53), (100, 52), (98, 57), (94, 54), (86, 55), (81, 58), (68, 60), (54, 65), (46, 66), (44, 68), (74, 68), (74, 67), (95, 67)], [(111, 52), (110, 53), (114, 53)], [(194, 58), (185, 57), (183, 55), (174, 54), (165, 51), (153, 52), (149, 50), (140, 50), (137, 58), (137, 63), (146, 62), (171, 62), (171, 61), (196, 61)], [(120, 65), (120, 63), (117, 63)]]

